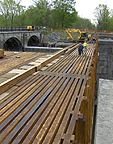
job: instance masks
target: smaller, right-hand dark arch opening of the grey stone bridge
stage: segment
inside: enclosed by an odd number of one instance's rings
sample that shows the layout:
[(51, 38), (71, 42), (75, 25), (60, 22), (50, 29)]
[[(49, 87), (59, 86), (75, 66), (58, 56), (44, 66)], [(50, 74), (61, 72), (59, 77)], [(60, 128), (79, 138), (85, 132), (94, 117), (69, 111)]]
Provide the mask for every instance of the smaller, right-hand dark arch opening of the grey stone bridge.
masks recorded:
[(39, 46), (40, 40), (37, 36), (33, 35), (29, 38), (27, 46)]

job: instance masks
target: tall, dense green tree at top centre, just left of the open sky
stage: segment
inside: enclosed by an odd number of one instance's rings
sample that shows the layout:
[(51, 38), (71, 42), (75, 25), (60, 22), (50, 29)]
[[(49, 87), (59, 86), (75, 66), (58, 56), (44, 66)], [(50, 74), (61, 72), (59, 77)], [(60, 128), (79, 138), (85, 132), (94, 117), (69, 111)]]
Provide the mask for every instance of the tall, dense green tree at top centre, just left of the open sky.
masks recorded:
[(57, 25), (61, 28), (68, 28), (76, 21), (77, 12), (74, 8), (74, 0), (55, 0), (54, 1), (54, 18)]

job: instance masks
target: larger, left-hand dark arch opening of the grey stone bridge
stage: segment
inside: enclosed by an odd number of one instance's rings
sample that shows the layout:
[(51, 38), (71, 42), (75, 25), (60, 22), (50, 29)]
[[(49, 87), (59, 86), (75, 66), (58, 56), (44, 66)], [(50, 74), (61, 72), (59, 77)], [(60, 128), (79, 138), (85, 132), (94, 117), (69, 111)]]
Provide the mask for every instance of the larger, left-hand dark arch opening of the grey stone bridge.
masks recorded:
[(8, 51), (22, 51), (22, 43), (16, 37), (7, 39), (3, 47)]

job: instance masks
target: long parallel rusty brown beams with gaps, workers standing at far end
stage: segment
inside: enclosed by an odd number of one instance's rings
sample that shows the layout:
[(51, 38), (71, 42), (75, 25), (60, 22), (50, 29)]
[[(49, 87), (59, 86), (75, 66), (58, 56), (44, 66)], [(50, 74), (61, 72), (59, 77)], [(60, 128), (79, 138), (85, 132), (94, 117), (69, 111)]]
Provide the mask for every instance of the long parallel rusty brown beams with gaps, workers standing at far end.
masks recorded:
[(0, 143), (72, 143), (93, 54), (69, 49), (1, 99)]

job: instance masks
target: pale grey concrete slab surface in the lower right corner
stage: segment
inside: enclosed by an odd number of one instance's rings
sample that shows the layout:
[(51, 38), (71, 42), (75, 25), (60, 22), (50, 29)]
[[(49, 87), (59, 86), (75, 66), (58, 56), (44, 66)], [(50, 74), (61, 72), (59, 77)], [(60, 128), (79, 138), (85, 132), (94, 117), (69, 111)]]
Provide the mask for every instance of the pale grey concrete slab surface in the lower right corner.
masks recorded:
[(113, 80), (99, 79), (94, 144), (113, 144)]

